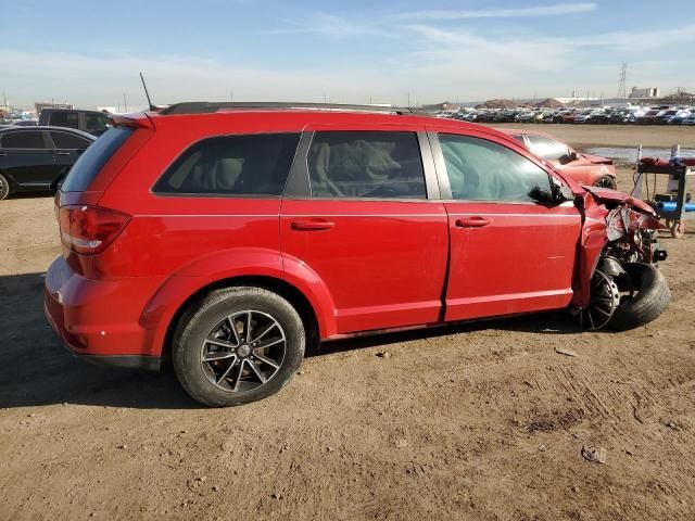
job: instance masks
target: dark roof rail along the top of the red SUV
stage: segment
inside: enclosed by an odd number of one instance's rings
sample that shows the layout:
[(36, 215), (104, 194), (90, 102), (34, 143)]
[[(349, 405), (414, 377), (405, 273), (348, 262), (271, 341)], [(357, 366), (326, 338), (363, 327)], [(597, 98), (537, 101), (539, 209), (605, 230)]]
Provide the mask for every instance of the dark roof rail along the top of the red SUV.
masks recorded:
[(175, 103), (159, 111), (159, 114), (212, 114), (224, 109), (315, 109), (325, 111), (348, 111), (348, 112), (382, 112), (391, 114), (427, 114), (420, 109), (403, 106), (383, 105), (351, 105), (343, 103), (292, 103), (283, 101), (270, 102), (206, 102), (191, 101), (186, 103)]

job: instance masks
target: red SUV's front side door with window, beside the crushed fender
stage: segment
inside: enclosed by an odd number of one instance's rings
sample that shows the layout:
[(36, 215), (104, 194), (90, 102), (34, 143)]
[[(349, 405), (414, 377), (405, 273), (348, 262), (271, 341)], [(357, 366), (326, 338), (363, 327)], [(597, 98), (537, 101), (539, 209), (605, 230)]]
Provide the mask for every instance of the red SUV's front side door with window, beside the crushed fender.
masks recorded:
[(551, 191), (548, 173), (485, 132), (430, 140), (451, 236), (445, 319), (567, 306), (581, 218), (571, 203), (535, 200), (534, 188)]

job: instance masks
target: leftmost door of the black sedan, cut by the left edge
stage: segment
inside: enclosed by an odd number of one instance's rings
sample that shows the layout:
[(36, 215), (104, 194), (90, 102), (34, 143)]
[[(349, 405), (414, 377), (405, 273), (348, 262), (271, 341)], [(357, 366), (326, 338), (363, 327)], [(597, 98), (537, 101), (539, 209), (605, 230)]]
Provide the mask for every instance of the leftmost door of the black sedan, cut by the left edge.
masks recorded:
[(3, 132), (0, 156), (3, 171), (26, 190), (46, 188), (53, 180), (53, 152), (43, 130)]

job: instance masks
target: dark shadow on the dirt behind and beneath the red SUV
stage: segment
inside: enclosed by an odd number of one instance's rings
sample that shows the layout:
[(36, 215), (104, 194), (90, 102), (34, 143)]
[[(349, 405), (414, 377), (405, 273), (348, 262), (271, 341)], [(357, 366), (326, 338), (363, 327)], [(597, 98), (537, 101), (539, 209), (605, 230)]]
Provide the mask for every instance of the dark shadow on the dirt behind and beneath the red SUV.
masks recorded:
[[(92, 366), (73, 357), (43, 317), (43, 276), (0, 276), (0, 408), (58, 404), (103, 407), (193, 409), (199, 406), (178, 385), (172, 370), (160, 373)], [(566, 314), (541, 314), (353, 338), (324, 343), (307, 356), (321, 356), (426, 336), (481, 329), (572, 333)]]

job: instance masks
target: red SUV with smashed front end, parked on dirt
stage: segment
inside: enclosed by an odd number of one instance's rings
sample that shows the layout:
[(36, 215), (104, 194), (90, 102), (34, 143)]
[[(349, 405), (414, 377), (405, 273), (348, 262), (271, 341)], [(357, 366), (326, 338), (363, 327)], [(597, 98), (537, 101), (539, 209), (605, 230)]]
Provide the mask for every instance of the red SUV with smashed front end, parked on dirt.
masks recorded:
[(114, 117), (55, 198), (46, 314), (91, 361), (170, 357), (208, 406), (279, 391), (323, 340), (669, 304), (641, 201), (490, 128), (408, 110), (181, 103)]

